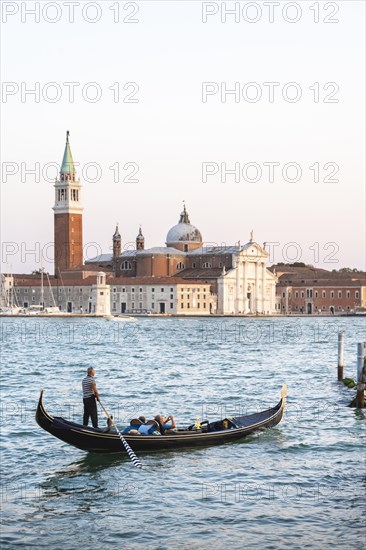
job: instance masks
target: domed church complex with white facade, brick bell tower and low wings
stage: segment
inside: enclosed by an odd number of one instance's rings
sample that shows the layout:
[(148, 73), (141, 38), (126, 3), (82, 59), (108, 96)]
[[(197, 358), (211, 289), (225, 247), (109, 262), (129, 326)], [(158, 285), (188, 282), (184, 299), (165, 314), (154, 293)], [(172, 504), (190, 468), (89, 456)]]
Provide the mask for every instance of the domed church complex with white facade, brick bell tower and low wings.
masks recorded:
[[(124, 250), (117, 226), (112, 253), (85, 262), (81, 183), (69, 133), (55, 182), (55, 272), (47, 285), (40, 276), (15, 276), (19, 305), (56, 305), (71, 313), (96, 313), (97, 280), (109, 288), (111, 313), (250, 315), (276, 313), (276, 275), (267, 269), (268, 252), (253, 239), (232, 246), (205, 245), (186, 206), (170, 228), (165, 246), (145, 247), (140, 227), (133, 250)], [(104, 275), (105, 274), (105, 278)], [(97, 285), (98, 286), (98, 285)], [(99, 305), (98, 305), (99, 304)], [(108, 307), (107, 307), (108, 309)]]

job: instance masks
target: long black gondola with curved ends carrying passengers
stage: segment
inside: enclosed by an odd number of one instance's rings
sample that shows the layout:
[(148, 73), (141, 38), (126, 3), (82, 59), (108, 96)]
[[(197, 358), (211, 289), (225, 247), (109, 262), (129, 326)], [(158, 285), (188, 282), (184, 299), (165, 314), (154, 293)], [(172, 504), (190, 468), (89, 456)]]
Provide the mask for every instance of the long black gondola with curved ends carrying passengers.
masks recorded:
[[(165, 451), (184, 447), (219, 445), (248, 434), (276, 426), (282, 419), (286, 405), (286, 385), (281, 391), (281, 400), (275, 407), (248, 416), (227, 417), (215, 422), (202, 422), (201, 428), (189, 426), (164, 435), (124, 434), (134, 451)], [(43, 405), (43, 390), (36, 410), (36, 421), (51, 435), (82, 451), (93, 453), (125, 452), (118, 434), (106, 433), (99, 428), (85, 427), (61, 417), (50, 416)]]

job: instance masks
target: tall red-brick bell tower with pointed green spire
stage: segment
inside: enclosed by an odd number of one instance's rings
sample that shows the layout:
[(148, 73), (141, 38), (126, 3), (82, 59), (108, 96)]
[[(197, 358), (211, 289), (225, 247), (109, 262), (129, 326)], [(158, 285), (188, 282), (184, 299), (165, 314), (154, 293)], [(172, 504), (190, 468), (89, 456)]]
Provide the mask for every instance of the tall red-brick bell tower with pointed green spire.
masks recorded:
[(75, 165), (71, 154), (69, 134), (66, 132), (65, 152), (60, 176), (55, 182), (54, 231), (55, 231), (55, 276), (66, 269), (83, 265), (83, 208), (81, 184), (76, 179)]

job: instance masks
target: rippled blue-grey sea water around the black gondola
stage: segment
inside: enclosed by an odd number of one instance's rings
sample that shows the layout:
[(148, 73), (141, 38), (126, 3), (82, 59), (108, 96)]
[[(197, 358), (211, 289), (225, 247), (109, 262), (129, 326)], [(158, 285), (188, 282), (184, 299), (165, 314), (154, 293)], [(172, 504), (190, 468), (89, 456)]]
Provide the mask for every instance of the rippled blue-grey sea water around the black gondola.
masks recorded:
[[(356, 377), (362, 318), (9, 318), (1, 320), (2, 547), (75, 549), (365, 548), (365, 411), (337, 382)], [(282, 422), (232, 444), (87, 454), (43, 431), (82, 421), (96, 370), (119, 427), (174, 415), (179, 426), (275, 405)], [(106, 419), (99, 410), (99, 425)]]

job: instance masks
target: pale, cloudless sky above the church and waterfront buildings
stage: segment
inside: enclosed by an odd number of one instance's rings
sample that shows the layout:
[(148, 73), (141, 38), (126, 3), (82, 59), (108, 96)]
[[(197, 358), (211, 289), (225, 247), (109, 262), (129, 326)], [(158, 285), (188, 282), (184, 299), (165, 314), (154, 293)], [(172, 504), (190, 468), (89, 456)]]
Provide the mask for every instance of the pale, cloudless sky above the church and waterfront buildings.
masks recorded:
[(364, 2), (1, 9), (3, 272), (53, 272), (67, 130), (86, 258), (117, 222), (164, 245), (185, 201), (205, 244), (365, 269)]

